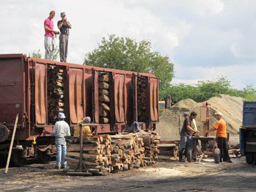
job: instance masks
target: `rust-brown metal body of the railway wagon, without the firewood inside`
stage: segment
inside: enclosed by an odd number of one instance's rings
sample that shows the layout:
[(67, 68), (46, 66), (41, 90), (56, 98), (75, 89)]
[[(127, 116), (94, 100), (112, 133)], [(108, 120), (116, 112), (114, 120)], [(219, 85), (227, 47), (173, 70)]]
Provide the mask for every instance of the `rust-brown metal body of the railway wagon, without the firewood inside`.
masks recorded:
[[(47, 114), (47, 68), (61, 67), (64, 71), (64, 103), (67, 123), (74, 127), (81, 118), (90, 116), (97, 125), (97, 134), (115, 134), (138, 121), (137, 78), (147, 79), (145, 121), (141, 129), (154, 130), (159, 121), (158, 79), (154, 74), (99, 68), (88, 65), (28, 58), (24, 54), (0, 54), (0, 153), (10, 146), (15, 116), (19, 113), (14, 149), (22, 149), (24, 157), (36, 150), (53, 154), (52, 137), (44, 134), (53, 124)], [(99, 123), (99, 72), (109, 72), (110, 121)], [(33, 144), (33, 139), (36, 144)], [(19, 148), (15, 148), (19, 145)], [(21, 147), (22, 145), (22, 147)]]

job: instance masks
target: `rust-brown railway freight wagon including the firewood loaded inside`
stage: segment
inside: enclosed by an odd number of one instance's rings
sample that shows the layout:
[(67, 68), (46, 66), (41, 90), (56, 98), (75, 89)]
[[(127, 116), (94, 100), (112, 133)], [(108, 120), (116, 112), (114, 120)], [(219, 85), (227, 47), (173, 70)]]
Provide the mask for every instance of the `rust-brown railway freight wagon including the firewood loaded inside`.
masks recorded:
[(71, 127), (90, 116), (97, 134), (118, 134), (137, 121), (156, 129), (158, 79), (154, 74), (0, 54), (0, 155), (10, 146), (15, 116), (19, 121), (12, 160), (18, 166), (56, 154), (52, 131), (58, 112)]

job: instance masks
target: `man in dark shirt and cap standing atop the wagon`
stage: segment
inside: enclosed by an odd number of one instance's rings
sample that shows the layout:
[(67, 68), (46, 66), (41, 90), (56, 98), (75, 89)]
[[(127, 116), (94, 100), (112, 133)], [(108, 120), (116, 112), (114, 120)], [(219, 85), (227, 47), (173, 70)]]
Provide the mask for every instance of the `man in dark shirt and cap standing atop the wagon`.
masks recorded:
[(67, 62), (68, 56), (68, 35), (69, 29), (72, 28), (70, 22), (67, 21), (66, 13), (60, 13), (61, 20), (58, 21), (58, 28), (60, 29), (60, 61)]

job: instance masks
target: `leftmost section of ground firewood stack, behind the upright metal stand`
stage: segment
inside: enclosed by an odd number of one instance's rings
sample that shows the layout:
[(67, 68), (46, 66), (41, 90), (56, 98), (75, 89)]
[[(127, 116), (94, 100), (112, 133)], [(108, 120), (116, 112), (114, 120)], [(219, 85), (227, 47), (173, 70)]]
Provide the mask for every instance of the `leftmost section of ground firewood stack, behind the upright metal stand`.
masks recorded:
[[(79, 138), (67, 136), (67, 156), (69, 172), (75, 170), (80, 157)], [(111, 139), (109, 135), (83, 136), (83, 163), (88, 172), (95, 175), (108, 175), (111, 162)]]

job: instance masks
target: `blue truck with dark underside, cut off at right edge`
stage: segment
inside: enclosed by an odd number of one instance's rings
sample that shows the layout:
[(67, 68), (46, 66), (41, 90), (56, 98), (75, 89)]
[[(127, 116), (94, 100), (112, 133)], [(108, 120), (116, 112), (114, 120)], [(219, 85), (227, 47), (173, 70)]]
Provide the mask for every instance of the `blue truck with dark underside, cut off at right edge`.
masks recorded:
[(256, 163), (256, 101), (243, 102), (243, 127), (239, 130), (240, 152), (248, 164)]

